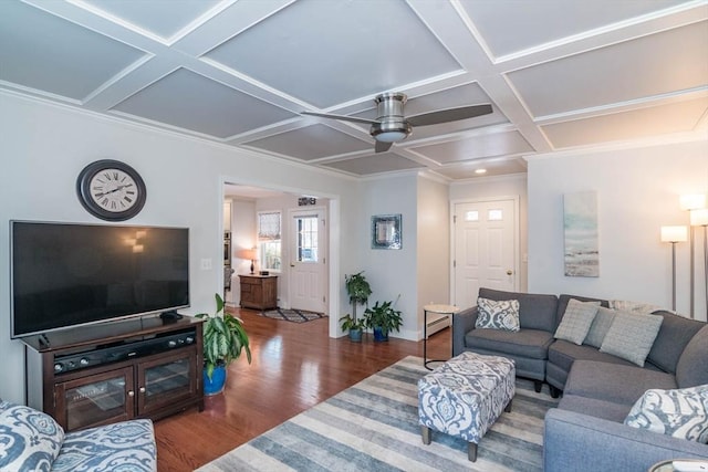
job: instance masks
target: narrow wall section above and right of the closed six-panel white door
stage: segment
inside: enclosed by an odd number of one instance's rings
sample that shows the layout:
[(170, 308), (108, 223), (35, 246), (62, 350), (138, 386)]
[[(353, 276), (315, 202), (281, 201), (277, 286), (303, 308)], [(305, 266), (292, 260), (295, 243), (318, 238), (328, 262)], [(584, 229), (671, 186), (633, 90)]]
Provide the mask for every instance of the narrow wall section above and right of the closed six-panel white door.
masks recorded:
[(528, 196), (527, 176), (513, 175), (502, 177), (482, 177), (471, 181), (454, 182), (450, 185), (450, 201), (452, 203), (466, 201), (489, 200), (501, 197), (519, 198), (519, 291), (527, 292), (528, 280)]

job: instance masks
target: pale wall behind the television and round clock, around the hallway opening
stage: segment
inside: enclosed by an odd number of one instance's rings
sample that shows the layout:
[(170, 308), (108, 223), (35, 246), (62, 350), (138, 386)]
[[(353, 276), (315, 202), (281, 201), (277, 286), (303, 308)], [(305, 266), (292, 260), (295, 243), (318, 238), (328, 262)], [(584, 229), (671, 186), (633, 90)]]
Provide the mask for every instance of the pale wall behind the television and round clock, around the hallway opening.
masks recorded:
[[(188, 314), (214, 311), (214, 293), (222, 291), (223, 182), (248, 183), (323, 195), (336, 201), (332, 218), (341, 234), (340, 259), (332, 274), (343, 280), (355, 265), (358, 183), (332, 172), (285, 164), (228, 146), (146, 129), (133, 124), (30, 98), (0, 93), (0, 266), (9, 268), (11, 219), (100, 222), (79, 203), (76, 176), (87, 164), (114, 158), (133, 166), (147, 186), (143, 211), (128, 223), (190, 229), (191, 307)], [(342, 216), (342, 217), (340, 217)], [(340, 221), (341, 218), (341, 221)], [(340, 248), (342, 251), (340, 253)], [(212, 270), (199, 270), (201, 259)], [(10, 340), (9, 270), (0, 271), (0, 397), (23, 401), (23, 345)], [(346, 307), (339, 293), (331, 304)], [(331, 322), (331, 328), (335, 322)]]

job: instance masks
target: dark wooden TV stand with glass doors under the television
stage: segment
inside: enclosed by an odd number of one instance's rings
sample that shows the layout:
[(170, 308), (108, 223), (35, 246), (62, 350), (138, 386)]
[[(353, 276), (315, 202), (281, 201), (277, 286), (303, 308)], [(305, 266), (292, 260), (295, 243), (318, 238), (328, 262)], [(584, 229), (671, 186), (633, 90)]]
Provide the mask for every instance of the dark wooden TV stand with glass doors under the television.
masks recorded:
[(204, 410), (202, 321), (145, 316), (22, 339), (28, 405), (66, 431)]

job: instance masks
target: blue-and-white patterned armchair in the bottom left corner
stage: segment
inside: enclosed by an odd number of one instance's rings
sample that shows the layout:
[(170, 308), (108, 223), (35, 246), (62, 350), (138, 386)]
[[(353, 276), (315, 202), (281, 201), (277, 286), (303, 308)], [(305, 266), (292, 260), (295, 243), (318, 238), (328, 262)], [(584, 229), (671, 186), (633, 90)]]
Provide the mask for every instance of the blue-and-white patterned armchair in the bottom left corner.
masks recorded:
[(156, 471), (150, 420), (132, 420), (64, 433), (52, 417), (0, 401), (0, 470)]

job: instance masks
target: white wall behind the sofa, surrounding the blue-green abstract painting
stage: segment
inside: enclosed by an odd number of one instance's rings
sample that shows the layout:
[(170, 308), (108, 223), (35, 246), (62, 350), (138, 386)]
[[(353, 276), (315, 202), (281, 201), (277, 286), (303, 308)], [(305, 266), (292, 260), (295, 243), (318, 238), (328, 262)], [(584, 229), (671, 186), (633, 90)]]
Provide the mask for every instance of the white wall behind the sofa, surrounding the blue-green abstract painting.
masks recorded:
[[(659, 228), (688, 224), (681, 193), (708, 191), (708, 141), (597, 151), (529, 161), (529, 291), (629, 300), (670, 308), (670, 244)], [(600, 277), (563, 272), (563, 195), (595, 190)], [(677, 311), (688, 313), (689, 245), (677, 245)], [(701, 251), (698, 252), (700, 256)], [(702, 275), (697, 318), (706, 319)]]

